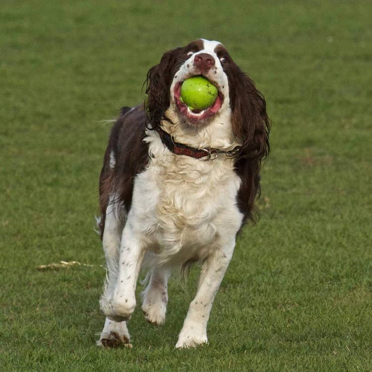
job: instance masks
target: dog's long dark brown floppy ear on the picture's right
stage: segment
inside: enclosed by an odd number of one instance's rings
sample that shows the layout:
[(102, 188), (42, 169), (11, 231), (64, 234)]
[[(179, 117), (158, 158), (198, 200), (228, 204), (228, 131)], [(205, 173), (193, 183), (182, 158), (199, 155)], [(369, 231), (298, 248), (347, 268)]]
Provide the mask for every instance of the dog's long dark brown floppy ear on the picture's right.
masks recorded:
[(233, 130), (242, 141), (240, 156), (260, 162), (270, 150), (270, 120), (265, 99), (255, 88), (254, 82), (237, 65), (231, 68), (229, 83)]

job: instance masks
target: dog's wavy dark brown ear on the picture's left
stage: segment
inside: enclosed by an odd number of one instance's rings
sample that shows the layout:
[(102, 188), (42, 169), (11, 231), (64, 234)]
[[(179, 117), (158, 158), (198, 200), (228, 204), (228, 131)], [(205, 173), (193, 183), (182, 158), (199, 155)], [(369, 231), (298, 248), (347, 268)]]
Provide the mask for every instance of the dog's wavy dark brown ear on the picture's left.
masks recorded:
[(166, 52), (160, 63), (151, 67), (147, 72), (147, 78), (144, 83), (146, 85), (147, 97), (144, 107), (152, 128), (160, 125), (160, 121), (164, 118), (164, 113), (169, 107), (169, 89), (172, 83), (174, 69), (178, 65), (177, 52), (181, 49), (176, 48)]

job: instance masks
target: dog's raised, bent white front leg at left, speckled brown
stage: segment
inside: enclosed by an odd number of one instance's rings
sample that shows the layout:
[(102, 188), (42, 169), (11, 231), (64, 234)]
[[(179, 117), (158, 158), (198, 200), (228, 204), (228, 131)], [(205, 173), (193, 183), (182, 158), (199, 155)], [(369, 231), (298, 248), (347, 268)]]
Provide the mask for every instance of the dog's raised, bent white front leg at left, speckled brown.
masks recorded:
[(110, 319), (120, 321), (130, 318), (136, 305), (135, 288), (144, 253), (144, 244), (134, 234), (128, 218), (120, 246), (119, 272), (111, 301), (111, 314), (106, 313)]

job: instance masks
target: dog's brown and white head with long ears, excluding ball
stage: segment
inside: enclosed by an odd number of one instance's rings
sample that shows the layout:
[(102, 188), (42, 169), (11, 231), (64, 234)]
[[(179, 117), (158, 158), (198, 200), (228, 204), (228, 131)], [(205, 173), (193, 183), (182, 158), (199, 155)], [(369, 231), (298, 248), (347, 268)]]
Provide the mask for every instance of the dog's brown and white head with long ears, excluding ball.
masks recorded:
[[(216, 101), (205, 110), (191, 110), (180, 99), (183, 81), (196, 75), (218, 89)], [(153, 128), (169, 120), (170, 109), (190, 126), (203, 127), (223, 116), (231, 121), (242, 144), (241, 157), (261, 159), (268, 154), (270, 122), (265, 100), (221, 43), (198, 39), (166, 52), (147, 73), (146, 93), (145, 108)]]

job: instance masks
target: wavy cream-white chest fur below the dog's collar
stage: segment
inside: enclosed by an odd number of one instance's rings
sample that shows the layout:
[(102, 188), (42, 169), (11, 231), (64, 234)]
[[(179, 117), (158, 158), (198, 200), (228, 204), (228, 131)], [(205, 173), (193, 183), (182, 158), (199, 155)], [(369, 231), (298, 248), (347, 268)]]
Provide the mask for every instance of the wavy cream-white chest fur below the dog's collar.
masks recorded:
[(147, 140), (153, 157), (135, 180), (128, 219), (158, 260), (202, 259), (235, 239), (243, 215), (233, 159), (203, 162), (171, 153), (155, 133)]

